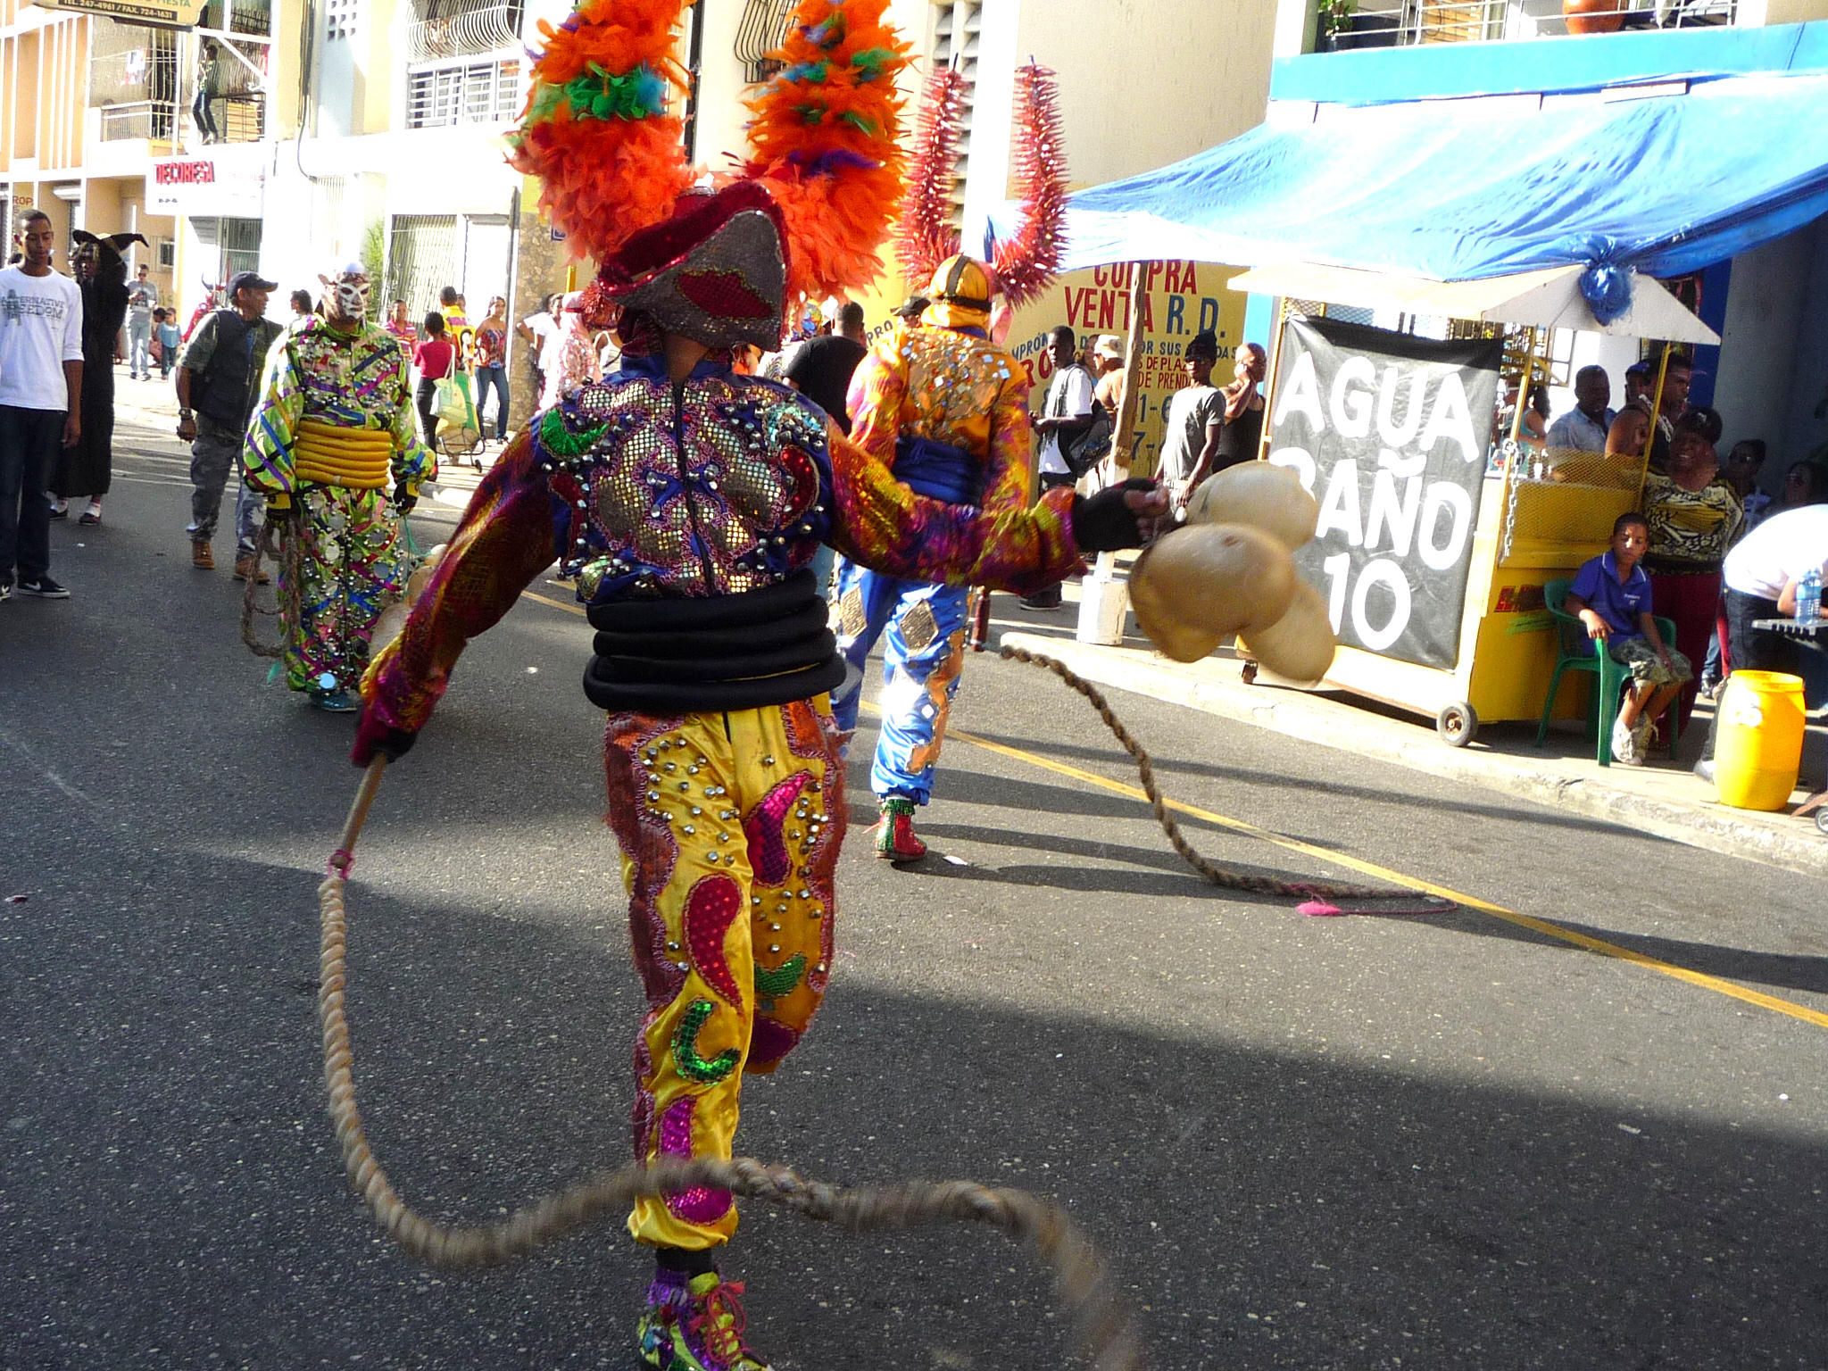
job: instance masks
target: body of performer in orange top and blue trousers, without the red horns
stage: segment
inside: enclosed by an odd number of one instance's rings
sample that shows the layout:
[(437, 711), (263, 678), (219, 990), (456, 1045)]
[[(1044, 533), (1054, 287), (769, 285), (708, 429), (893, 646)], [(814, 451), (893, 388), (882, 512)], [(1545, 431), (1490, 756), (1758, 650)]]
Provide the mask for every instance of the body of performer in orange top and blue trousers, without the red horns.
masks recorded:
[[(991, 274), (972, 258), (940, 263), (916, 327), (896, 329), (850, 382), (850, 441), (910, 490), (991, 515), (1029, 503), (1029, 422), (1022, 369), (993, 344)], [(932, 793), (945, 720), (965, 665), (969, 589), (909, 579), (845, 561), (837, 576), (837, 647), (857, 667), (832, 704), (857, 726), (861, 667), (883, 640), (883, 724), (870, 768), (881, 810), (876, 854), (914, 861), (927, 845), (914, 808)]]

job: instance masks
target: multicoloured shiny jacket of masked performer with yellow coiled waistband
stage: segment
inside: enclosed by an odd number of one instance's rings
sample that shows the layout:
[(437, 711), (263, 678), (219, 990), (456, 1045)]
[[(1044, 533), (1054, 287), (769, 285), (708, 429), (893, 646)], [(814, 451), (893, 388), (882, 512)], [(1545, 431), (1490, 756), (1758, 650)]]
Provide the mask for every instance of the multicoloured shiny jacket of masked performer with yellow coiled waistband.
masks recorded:
[(377, 324), (340, 333), (311, 314), (287, 327), (267, 355), (260, 404), (247, 426), (247, 483), (282, 506), (294, 492), (292, 450), (305, 419), (388, 433), (393, 483), (413, 499), (437, 477), (437, 459), (419, 439), (406, 353)]

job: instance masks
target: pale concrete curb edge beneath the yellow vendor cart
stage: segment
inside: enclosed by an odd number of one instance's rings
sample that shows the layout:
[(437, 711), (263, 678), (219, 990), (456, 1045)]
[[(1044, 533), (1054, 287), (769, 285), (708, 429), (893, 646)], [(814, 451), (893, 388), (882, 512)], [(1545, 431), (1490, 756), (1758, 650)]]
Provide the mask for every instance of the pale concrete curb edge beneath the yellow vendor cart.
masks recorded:
[(1031, 632), (1004, 632), (1002, 642), (1053, 656), (1099, 686), (1256, 724), (1302, 742), (1395, 762), (1446, 781), (1464, 781), (1537, 804), (1572, 810), (1636, 834), (1828, 877), (1828, 839), (1813, 830), (1777, 832), (1744, 823), (1726, 808), (1663, 801), (1601, 781), (1530, 766), (1501, 753), (1448, 748), (1433, 733), (1419, 735), (1415, 740), (1386, 737), (1380, 729), (1342, 718), (1336, 707), (1316, 702), (1302, 691), (1196, 676), (1186, 667), (1137, 649), (1093, 647), (1073, 638)]

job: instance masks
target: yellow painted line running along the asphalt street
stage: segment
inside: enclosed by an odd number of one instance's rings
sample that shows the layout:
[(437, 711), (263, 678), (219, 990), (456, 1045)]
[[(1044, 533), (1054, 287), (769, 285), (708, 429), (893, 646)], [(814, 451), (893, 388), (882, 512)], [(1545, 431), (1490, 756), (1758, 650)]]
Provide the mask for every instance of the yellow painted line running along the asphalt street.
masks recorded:
[[(563, 600), (552, 600), (543, 594), (534, 594), (532, 590), (521, 590), (523, 600), (537, 600), (541, 605), (550, 605), (552, 609), (563, 609), (567, 614), (583, 614), (579, 605), (567, 605)], [(881, 715), (881, 709), (868, 700), (863, 707), (872, 715)], [(1011, 748), (1004, 742), (993, 742), (991, 739), (982, 739), (976, 733), (962, 733), (960, 729), (949, 728), (945, 731), (947, 739), (956, 739), (958, 742), (969, 742), (974, 748), (983, 748), (985, 751), (998, 753), (1016, 762), (1027, 766), (1038, 766), (1042, 771), (1053, 771), (1055, 775), (1071, 777), (1073, 781), (1082, 781), (1088, 786), (1097, 786), (1099, 790), (1108, 790), (1115, 795), (1126, 795), (1130, 799), (1142, 801), (1148, 804), (1148, 795), (1137, 786), (1126, 786), (1122, 781), (1110, 781), (1108, 777), (1097, 775), (1093, 771), (1084, 771), (1077, 766), (1066, 762), (1057, 762), (1051, 757), (1040, 757), (1038, 753), (1024, 751), (1022, 748)], [(1634, 967), (1643, 967), (1645, 971), (1654, 971), (1660, 976), (1671, 976), (1673, 980), (1687, 982), (1689, 985), (1698, 985), (1704, 991), (1713, 991), (1715, 994), (1726, 994), (1733, 1000), (1740, 1000), (1759, 1009), (1770, 1009), (1773, 1015), (1788, 1015), (1790, 1018), (1799, 1018), (1804, 1024), (1813, 1024), (1815, 1027), (1828, 1027), (1828, 1015), (1819, 1009), (1810, 1009), (1808, 1005), (1795, 1004), (1793, 1000), (1779, 1000), (1775, 994), (1764, 994), (1764, 991), (1749, 991), (1744, 985), (1737, 985), (1729, 980), (1720, 980), (1718, 976), (1709, 976), (1704, 971), (1691, 971), (1689, 967), (1678, 967), (1674, 962), (1663, 962), (1662, 958), (1645, 956), (1643, 952), (1634, 952), (1629, 947), (1620, 947), (1618, 943), (1609, 943), (1603, 938), (1594, 938), (1590, 934), (1579, 932), (1576, 929), (1563, 929), (1559, 923), (1550, 923), (1548, 919), (1539, 919), (1534, 914), (1519, 914), (1514, 909), (1504, 909), (1503, 905), (1493, 905), (1490, 899), (1479, 899), (1479, 896), (1470, 896), (1462, 890), (1453, 890), (1446, 885), (1435, 885), (1433, 881), (1424, 881), (1415, 876), (1404, 876), (1402, 872), (1391, 870), (1389, 866), (1378, 866), (1375, 861), (1362, 861), (1351, 857), (1344, 852), (1334, 852), (1333, 848), (1316, 846), (1314, 843), (1303, 843), (1298, 837), (1285, 837), (1283, 834), (1274, 834), (1269, 828), (1258, 828), (1243, 819), (1232, 819), (1223, 813), (1214, 813), (1212, 810), (1201, 810), (1194, 804), (1183, 804), (1181, 801), (1168, 801), (1168, 808), (1188, 815), (1190, 819), (1199, 819), (1201, 823), (1214, 824), (1217, 828), (1228, 828), (1234, 834), (1245, 834), (1247, 837), (1258, 837), (1274, 846), (1287, 848), (1289, 852), (1300, 852), (1302, 856), (1314, 857), (1316, 861), (1327, 861), (1334, 866), (1345, 866), (1360, 876), (1371, 876), (1380, 881), (1389, 881), (1391, 885), (1404, 885), (1411, 890), (1426, 890), (1431, 896), (1440, 896), (1442, 899), (1451, 899), (1466, 909), (1475, 909), (1481, 914), (1490, 914), (1495, 919), (1504, 919), (1504, 923), (1515, 923), (1519, 929), (1530, 929), (1545, 938), (1554, 938), (1572, 947), (1585, 949), (1589, 952), (1598, 952), (1600, 956), (1618, 958), (1620, 962), (1631, 962)]]

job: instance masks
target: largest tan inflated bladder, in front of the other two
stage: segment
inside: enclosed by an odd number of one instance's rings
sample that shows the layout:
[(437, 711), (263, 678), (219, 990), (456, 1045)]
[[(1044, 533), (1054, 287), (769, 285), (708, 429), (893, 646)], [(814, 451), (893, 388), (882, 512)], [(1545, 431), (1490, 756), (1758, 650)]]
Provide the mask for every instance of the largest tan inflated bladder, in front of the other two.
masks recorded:
[(1186, 525), (1137, 558), (1130, 605), (1163, 654), (1197, 662), (1228, 634), (1280, 620), (1296, 583), (1289, 548), (1263, 530)]

